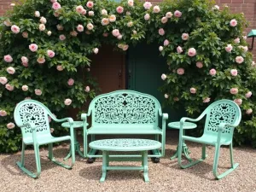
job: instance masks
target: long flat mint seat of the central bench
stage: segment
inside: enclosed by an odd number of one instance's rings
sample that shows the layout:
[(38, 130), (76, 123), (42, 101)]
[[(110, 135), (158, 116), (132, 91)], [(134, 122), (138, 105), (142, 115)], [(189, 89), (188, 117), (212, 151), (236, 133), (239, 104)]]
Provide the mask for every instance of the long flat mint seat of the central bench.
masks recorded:
[(93, 125), (88, 134), (162, 134), (160, 127), (155, 125)]

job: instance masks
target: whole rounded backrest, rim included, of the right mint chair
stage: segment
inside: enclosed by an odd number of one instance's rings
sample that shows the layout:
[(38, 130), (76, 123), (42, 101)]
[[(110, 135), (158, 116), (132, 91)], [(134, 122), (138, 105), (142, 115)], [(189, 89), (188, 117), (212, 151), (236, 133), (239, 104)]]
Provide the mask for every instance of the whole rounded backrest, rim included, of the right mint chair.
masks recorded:
[[(216, 136), (218, 135), (218, 125), (220, 123), (228, 123), (230, 125), (238, 125), (241, 121), (241, 109), (230, 100), (219, 100), (212, 102), (210, 106), (203, 112), (207, 114), (204, 134)], [(222, 137), (232, 139), (234, 128), (225, 127)]]

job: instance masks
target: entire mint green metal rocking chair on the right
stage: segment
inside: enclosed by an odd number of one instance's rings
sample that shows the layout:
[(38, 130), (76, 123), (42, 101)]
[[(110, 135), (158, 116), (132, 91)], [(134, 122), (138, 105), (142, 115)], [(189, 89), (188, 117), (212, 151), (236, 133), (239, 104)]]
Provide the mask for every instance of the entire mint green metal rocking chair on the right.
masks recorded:
[[(197, 122), (201, 120), (204, 116), (206, 117), (204, 132), (201, 137), (189, 137), (183, 136), (183, 124), (186, 120)], [(233, 160), (233, 148), (232, 140), (234, 129), (239, 125), (241, 121), (241, 110), (236, 104), (230, 100), (219, 100), (218, 102), (213, 102), (208, 106), (203, 113), (197, 119), (182, 118), (180, 120), (180, 130), (179, 130), (179, 148), (178, 148), (178, 164), (182, 168), (187, 168), (189, 166), (194, 166), (195, 164), (205, 160), (206, 145), (213, 145), (215, 147), (215, 154), (213, 160), (212, 172), (214, 177), (220, 179), (227, 176), (230, 172), (234, 171), (238, 166), (238, 163), (234, 164)], [(182, 165), (182, 144), (184, 141), (190, 141), (195, 143), (202, 143), (201, 159), (194, 160), (187, 165)], [(219, 148), (221, 145), (230, 146), (230, 164), (231, 167), (226, 172), (218, 174), (218, 158), (219, 158)]]

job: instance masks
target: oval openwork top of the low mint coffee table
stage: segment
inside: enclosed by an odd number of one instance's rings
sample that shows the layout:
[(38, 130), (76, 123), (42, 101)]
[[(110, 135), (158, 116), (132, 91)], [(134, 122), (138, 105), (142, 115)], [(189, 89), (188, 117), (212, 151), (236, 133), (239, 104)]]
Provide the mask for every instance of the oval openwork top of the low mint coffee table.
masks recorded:
[(90, 148), (107, 151), (146, 151), (161, 147), (161, 143), (150, 139), (102, 139), (89, 143)]

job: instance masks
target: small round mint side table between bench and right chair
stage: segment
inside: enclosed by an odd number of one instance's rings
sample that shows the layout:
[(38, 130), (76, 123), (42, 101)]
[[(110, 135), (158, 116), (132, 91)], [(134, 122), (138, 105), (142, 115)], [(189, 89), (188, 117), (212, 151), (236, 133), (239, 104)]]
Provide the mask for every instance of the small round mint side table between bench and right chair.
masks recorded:
[[(184, 122), (183, 124), (183, 135), (185, 135), (185, 130), (189, 130), (189, 129), (194, 129), (197, 125), (194, 123), (190, 123), (190, 122)], [(172, 128), (172, 129), (179, 129), (180, 128), (180, 123), (179, 121), (175, 121), (172, 123), (168, 124), (168, 127)], [(178, 149), (178, 145), (177, 145), (177, 149)], [(182, 153), (185, 155), (185, 157), (189, 160), (192, 161), (192, 159), (189, 157), (189, 148), (186, 145), (186, 143), (183, 142), (183, 147), (182, 147)], [(177, 150), (176, 153), (170, 158), (171, 160), (177, 158)]]

